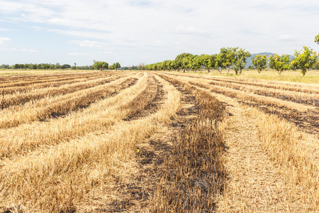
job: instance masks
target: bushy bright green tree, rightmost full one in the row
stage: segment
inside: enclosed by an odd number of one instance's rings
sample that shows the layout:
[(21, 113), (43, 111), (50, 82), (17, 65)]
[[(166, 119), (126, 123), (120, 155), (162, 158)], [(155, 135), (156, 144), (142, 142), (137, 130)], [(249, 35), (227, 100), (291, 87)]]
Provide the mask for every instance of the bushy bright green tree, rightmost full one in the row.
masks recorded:
[(313, 49), (310, 49), (307, 46), (303, 46), (303, 50), (296, 50), (295, 53), (293, 53), (293, 56), (296, 58), (291, 61), (291, 66), (301, 69), (303, 76), (306, 75), (309, 67), (312, 67), (318, 58), (317, 53), (313, 52)]

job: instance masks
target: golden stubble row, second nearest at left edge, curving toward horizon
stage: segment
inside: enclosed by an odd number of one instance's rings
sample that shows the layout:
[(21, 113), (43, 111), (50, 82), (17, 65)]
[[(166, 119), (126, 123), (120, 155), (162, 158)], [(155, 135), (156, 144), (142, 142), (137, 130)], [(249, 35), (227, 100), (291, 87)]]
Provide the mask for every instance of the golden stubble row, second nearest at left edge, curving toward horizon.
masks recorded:
[[(146, 77), (146, 76), (145, 76)], [(129, 107), (139, 92), (147, 89), (143, 80), (133, 87), (123, 90), (116, 97), (104, 99), (83, 111), (75, 112), (62, 119), (18, 126), (15, 129), (5, 130), (0, 140), (0, 158), (13, 158), (15, 155), (25, 155), (41, 146), (52, 146), (71, 138), (83, 136), (90, 131), (107, 129), (119, 119), (125, 119), (133, 112)], [(110, 85), (111, 89), (111, 85)], [(114, 90), (112, 91), (114, 92)], [(153, 89), (152, 92), (155, 92)], [(147, 100), (139, 107), (147, 106)], [(121, 109), (119, 109), (121, 108)], [(140, 108), (137, 108), (140, 109)]]

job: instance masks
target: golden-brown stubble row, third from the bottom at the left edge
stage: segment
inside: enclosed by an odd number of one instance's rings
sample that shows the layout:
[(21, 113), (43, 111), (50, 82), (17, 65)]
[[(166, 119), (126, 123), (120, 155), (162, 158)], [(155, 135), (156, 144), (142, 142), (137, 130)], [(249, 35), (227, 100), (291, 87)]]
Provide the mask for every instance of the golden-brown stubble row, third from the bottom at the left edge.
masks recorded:
[(111, 83), (3, 109), (0, 111), (0, 128), (10, 128), (32, 121), (63, 116), (70, 111), (88, 107), (89, 104), (103, 97), (108, 97), (114, 92), (130, 86), (133, 82), (133, 77), (123, 77)]

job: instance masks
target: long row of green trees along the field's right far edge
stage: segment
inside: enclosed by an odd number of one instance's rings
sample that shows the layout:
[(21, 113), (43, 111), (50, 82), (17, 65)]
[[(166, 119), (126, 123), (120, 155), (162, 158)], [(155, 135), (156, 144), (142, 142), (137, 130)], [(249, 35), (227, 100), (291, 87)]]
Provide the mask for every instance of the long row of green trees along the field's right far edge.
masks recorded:
[[(319, 35), (317, 35), (319, 43)], [(206, 69), (210, 72), (212, 69), (222, 72), (226, 69), (229, 73), (230, 68), (235, 70), (238, 75), (244, 68), (256, 69), (262, 72), (267, 68), (267, 64), (273, 70), (276, 70), (279, 75), (284, 70), (297, 70), (300, 69), (302, 75), (306, 75), (310, 67), (318, 69), (319, 61), (318, 54), (313, 49), (307, 46), (303, 50), (295, 51), (293, 59), (289, 55), (256, 55), (252, 58), (252, 66), (245, 67), (247, 58), (251, 54), (242, 48), (220, 48), (220, 53), (214, 55), (192, 55), (191, 53), (182, 53), (177, 55), (174, 60), (164, 60), (142, 67), (144, 70), (174, 70), (174, 71), (197, 71)]]

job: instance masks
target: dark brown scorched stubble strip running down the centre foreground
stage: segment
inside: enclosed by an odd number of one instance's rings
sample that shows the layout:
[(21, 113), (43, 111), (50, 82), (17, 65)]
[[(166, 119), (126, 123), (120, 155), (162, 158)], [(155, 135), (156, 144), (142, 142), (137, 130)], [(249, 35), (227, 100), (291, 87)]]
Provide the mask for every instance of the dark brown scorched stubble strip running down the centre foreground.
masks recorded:
[(226, 178), (225, 147), (218, 131), (218, 122), (225, 114), (223, 104), (208, 92), (164, 78), (194, 93), (200, 110), (197, 118), (177, 138), (172, 154), (164, 160), (162, 178), (157, 183), (150, 211), (211, 212)]

